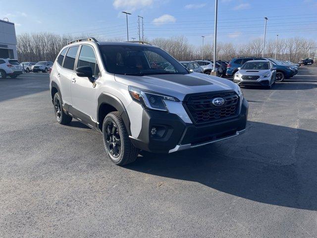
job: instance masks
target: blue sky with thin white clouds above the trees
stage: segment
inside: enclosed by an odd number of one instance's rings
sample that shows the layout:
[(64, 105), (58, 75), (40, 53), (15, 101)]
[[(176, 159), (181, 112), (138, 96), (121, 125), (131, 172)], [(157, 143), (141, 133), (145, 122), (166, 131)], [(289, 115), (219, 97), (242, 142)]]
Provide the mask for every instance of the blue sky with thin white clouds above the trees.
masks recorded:
[[(214, 0), (90, 0), (28, 1), (9, 4), (0, 0), (0, 18), (9, 18), (16, 33), (48, 31), (59, 34), (91, 34), (103, 39), (126, 39), (125, 15), (129, 11), (129, 36), (138, 38), (137, 16), (144, 17), (144, 35), (186, 36), (201, 44), (213, 40)], [(21, 7), (17, 7), (21, 6)], [(218, 40), (246, 43), (263, 37), (267, 16), (267, 38), (317, 39), (317, 0), (218, 0)], [(131, 40), (131, 39), (130, 39)]]

